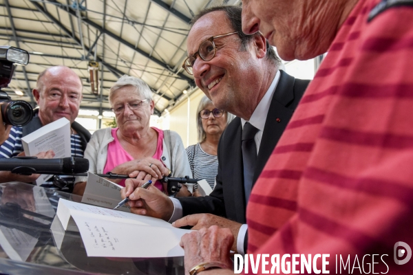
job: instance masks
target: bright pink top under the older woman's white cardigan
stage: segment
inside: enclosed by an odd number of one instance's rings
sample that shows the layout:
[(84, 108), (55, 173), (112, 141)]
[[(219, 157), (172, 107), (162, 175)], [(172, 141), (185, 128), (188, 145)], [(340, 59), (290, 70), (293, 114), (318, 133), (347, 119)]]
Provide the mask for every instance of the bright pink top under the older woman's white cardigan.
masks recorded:
[[(154, 159), (160, 159), (162, 156), (163, 152), (163, 146), (162, 146), (162, 141), (163, 141), (163, 131), (156, 128), (156, 127), (151, 127), (153, 130), (158, 133), (158, 143), (156, 145), (156, 152), (152, 156)], [(112, 171), (113, 168), (116, 166), (123, 164), (125, 162), (130, 162), (131, 160), (134, 160), (134, 157), (129, 155), (127, 151), (120, 145), (120, 142), (118, 140), (118, 136), (116, 135), (116, 131), (118, 131), (118, 128), (112, 129), (112, 137), (114, 137), (114, 141), (110, 142), (107, 144), (107, 160), (105, 164), (105, 168), (103, 169), (103, 173), (107, 173)], [(125, 186), (125, 179), (122, 179), (122, 181), (119, 182), (120, 186)], [(154, 184), (156, 188), (158, 188), (161, 191), (164, 191), (163, 185), (160, 181), (156, 181)]]

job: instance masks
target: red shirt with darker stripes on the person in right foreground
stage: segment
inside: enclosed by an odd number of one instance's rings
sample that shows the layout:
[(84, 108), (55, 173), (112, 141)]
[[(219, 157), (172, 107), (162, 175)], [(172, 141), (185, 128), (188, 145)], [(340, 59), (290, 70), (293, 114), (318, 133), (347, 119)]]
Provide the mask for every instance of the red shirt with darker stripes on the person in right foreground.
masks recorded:
[(379, 2), (343, 23), (253, 187), (248, 253), (330, 254), (330, 274), (336, 254), (388, 254), (412, 274), (393, 247), (413, 245), (413, 7), (368, 22)]

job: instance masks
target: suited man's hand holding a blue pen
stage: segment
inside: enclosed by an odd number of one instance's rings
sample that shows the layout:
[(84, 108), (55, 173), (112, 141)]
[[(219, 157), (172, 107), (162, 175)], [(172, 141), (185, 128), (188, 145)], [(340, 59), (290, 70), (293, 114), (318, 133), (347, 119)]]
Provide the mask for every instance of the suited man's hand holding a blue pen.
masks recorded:
[(153, 184), (147, 189), (138, 188), (144, 183), (145, 180), (127, 179), (125, 188), (120, 190), (120, 195), (123, 199), (129, 196), (131, 201), (127, 204), (131, 207), (132, 213), (169, 221), (173, 214), (171, 199)]

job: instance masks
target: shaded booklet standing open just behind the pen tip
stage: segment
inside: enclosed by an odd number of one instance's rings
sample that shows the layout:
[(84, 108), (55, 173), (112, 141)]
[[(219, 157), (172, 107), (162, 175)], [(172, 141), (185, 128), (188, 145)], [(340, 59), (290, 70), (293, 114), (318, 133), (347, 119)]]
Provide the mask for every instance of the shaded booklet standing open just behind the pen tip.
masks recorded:
[[(122, 197), (120, 197), (120, 189), (122, 188), (112, 181), (88, 172), (82, 202), (113, 209), (122, 201)], [(122, 206), (117, 210), (130, 212), (129, 206)]]

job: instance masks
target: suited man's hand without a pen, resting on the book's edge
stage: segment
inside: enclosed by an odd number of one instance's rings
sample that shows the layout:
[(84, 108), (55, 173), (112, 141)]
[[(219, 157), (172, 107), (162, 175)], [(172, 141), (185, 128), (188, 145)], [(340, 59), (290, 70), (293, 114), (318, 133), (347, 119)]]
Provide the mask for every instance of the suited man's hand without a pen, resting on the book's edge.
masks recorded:
[[(223, 217), (215, 216), (214, 214), (191, 214), (174, 221), (172, 225), (176, 228), (190, 225), (192, 226), (192, 230), (200, 230), (201, 228), (209, 228), (212, 225), (217, 225), (219, 228), (228, 228), (231, 230), (233, 237), (236, 240), (242, 224)], [(236, 241), (233, 242), (231, 250), (237, 252)]]

